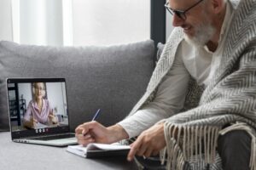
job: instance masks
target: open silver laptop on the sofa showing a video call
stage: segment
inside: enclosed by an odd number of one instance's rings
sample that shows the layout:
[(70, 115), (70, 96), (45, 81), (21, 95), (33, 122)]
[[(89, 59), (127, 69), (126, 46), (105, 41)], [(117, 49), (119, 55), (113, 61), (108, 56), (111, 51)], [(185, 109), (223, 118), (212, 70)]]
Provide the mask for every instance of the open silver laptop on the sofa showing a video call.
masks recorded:
[(14, 142), (67, 146), (70, 133), (64, 78), (8, 78), (9, 124)]

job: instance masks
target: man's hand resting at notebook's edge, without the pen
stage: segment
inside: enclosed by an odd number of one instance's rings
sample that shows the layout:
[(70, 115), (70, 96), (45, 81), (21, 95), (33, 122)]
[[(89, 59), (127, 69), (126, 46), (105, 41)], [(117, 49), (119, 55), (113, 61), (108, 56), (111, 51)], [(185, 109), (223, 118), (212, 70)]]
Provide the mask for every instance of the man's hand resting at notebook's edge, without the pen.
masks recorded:
[(138, 136), (137, 140), (131, 144), (131, 150), (127, 156), (128, 161), (132, 161), (137, 156), (156, 156), (160, 150), (166, 146), (164, 133), (164, 123), (155, 124)]

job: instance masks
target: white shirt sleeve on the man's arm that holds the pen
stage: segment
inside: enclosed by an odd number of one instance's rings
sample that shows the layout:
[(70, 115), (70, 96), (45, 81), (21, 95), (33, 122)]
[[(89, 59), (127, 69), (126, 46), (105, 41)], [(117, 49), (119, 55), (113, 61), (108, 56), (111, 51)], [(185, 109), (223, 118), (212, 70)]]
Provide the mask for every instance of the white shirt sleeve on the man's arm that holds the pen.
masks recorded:
[(166, 74), (157, 89), (154, 101), (118, 124), (131, 138), (153, 126), (155, 122), (172, 116), (183, 108), (188, 83), (189, 72), (183, 64), (181, 54), (177, 54), (172, 69)]

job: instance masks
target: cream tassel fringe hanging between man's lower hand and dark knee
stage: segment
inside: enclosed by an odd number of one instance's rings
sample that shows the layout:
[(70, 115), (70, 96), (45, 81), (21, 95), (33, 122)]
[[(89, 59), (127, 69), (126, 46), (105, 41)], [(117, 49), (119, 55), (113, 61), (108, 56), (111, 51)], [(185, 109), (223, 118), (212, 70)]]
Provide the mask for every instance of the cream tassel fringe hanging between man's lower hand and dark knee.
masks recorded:
[[(220, 127), (189, 127), (166, 122), (167, 169), (183, 170), (184, 161), (194, 161), (194, 156), (213, 163), (219, 131)], [(165, 161), (165, 156), (161, 155), (161, 160)]]

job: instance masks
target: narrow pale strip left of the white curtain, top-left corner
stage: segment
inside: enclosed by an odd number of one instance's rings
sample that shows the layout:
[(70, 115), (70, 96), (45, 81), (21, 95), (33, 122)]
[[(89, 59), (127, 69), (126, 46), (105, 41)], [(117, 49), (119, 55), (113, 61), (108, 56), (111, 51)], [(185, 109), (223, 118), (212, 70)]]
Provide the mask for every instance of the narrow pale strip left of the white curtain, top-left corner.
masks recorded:
[(0, 40), (13, 40), (11, 0), (0, 0)]

